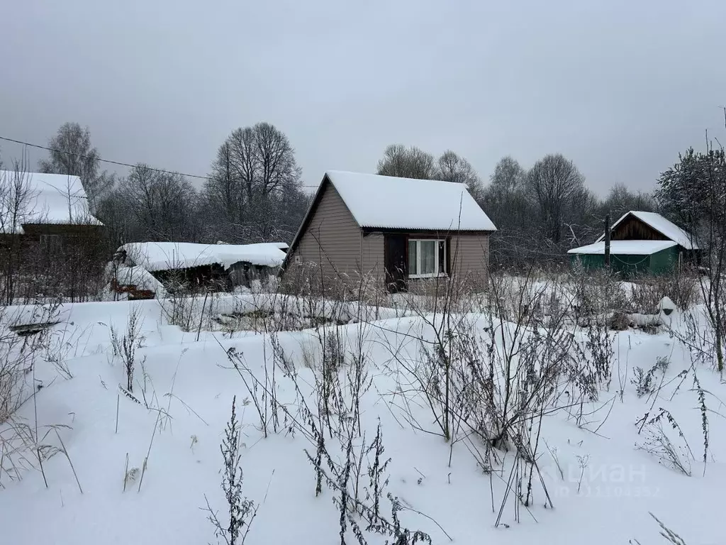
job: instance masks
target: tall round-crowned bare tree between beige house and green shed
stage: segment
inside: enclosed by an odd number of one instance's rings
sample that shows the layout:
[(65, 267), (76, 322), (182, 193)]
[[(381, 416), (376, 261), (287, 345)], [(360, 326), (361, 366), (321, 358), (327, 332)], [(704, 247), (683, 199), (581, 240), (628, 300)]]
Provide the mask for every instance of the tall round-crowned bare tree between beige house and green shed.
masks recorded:
[(584, 176), (572, 161), (557, 153), (534, 163), (527, 174), (526, 185), (539, 212), (542, 235), (559, 244), (563, 228), (576, 207), (591, 202)]

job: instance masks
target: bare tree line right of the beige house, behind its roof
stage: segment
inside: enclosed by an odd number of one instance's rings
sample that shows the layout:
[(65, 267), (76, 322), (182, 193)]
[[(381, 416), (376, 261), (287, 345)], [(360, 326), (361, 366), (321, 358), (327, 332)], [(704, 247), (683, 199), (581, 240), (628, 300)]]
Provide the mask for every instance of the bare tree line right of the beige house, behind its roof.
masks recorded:
[(652, 193), (633, 192), (622, 184), (611, 187), (605, 199), (597, 198), (575, 163), (559, 153), (529, 169), (504, 157), (485, 186), (469, 161), (452, 150), (437, 159), (420, 148), (391, 145), (378, 163), (378, 174), (468, 185), (497, 225), (490, 243), (494, 265), (561, 260), (567, 249), (591, 243), (603, 232), (605, 214), (614, 221), (629, 210), (658, 209)]

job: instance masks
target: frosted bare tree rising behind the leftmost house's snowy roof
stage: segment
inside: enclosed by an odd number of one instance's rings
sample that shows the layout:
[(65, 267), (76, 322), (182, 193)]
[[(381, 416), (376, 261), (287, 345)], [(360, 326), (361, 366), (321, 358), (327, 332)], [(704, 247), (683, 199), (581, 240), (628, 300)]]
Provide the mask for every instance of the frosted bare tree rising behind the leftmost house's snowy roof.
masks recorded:
[(99, 171), (100, 154), (91, 145), (91, 132), (77, 123), (64, 123), (48, 141), (50, 156), (41, 159), (38, 168), (49, 174), (68, 174), (81, 178), (94, 211), (99, 195), (113, 185), (113, 175)]

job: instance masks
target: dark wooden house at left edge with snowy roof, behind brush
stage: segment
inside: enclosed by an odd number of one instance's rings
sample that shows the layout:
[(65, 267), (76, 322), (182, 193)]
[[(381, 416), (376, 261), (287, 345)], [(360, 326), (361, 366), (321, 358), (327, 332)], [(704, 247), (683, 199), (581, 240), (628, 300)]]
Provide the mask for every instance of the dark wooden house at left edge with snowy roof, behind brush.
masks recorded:
[(104, 231), (77, 176), (0, 171), (4, 300), (94, 297), (103, 281)]

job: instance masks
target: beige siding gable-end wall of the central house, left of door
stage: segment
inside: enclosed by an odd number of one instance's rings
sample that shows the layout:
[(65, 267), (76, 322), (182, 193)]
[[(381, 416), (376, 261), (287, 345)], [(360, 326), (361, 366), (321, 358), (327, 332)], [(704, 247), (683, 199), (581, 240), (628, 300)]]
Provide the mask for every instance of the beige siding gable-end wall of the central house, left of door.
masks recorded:
[(315, 264), (326, 278), (359, 278), (361, 230), (333, 185), (327, 185), (317, 211), (293, 250), (285, 276), (295, 270), (295, 258)]

